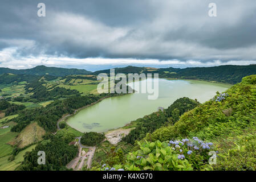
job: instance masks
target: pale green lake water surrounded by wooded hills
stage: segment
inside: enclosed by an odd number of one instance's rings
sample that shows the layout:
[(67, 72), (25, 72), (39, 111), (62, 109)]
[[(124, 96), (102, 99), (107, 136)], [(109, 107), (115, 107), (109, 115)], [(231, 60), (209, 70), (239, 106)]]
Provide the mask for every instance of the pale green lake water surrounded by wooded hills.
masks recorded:
[[(129, 85), (132, 86), (131, 84)], [(141, 84), (141, 81), (136, 84)], [(228, 84), (215, 84), (206, 81), (159, 79), (157, 100), (148, 100), (148, 94), (143, 93), (106, 98), (80, 110), (68, 118), (67, 123), (82, 132), (104, 132), (125, 126), (137, 118), (151, 114), (160, 106), (167, 108), (178, 98), (197, 98), (199, 102), (203, 103), (213, 98), (217, 91), (224, 92), (229, 87)]]

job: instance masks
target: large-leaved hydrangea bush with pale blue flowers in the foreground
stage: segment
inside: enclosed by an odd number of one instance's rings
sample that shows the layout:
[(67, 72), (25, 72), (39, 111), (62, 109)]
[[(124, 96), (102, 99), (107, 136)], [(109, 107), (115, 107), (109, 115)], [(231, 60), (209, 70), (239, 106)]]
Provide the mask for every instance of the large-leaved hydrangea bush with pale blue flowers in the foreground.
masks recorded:
[[(197, 137), (193, 139), (170, 140), (168, 142), (137, 142), (140, 150), (130, 152), (124, 165), (113, 167), (103, 164), (104, 171), (187, 171), (203, 169), (210, 158), (213, 143), (206, 143)], [(209, 169), (209, 168), (205, 168)]]

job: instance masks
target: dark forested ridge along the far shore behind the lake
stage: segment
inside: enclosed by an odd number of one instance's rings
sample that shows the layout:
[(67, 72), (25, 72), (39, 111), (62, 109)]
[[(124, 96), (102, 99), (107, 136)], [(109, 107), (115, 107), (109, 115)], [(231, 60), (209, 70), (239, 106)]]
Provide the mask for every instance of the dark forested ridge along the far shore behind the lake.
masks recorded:
[[(92, 75), (99, 73), (108, 73), (109, 69), (96, 71)], [(115, 68), (115, 73), (159, 73), (162, 78), (180, 78), (180, 79), (196, 79), (206, 81), (226, 82), (236, 84), (241, 82), (242, 78), (256, 74), (256, 65), (223, 65), (218, 67), (197, 67), (197, 68), (147, 68), (132, 67)]]

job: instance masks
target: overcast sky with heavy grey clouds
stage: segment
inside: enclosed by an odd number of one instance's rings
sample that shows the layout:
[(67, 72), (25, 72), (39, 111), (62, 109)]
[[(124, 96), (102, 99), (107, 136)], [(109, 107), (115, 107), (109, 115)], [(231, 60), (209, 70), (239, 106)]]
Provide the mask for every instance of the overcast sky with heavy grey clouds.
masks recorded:
[(255, 64), (255, 31), (255, 0), (1, 0), (0, 67)]

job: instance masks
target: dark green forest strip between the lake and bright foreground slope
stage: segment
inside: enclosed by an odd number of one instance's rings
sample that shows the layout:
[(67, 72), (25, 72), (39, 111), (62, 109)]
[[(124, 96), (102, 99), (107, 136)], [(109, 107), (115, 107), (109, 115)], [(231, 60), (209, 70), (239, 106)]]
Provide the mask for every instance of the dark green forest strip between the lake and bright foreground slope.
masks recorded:
[(166, 123), (174, 124), (183, 113), (194, 109), (198, 105), (199, 103), (197, 101), (190, 100), (187, 97), (179, 98), (163, 112), (158, 111), (137, 119), (135, 121), (137, 123), (136, 128), (125, 136), (123, 141), (133, 144), (135, 140), (143, 139), (147, 133), (152, 133)]

